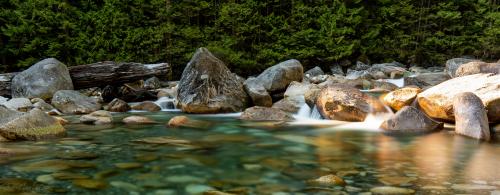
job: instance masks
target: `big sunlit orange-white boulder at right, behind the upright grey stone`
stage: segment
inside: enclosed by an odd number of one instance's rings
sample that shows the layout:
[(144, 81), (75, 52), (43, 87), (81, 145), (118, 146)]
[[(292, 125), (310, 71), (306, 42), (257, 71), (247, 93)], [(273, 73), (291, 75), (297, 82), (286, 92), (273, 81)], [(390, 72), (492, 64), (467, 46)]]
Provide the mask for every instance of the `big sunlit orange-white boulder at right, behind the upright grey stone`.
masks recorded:
[(500, 75), (456, 77), (418, 94), (420, 108), (430, 117), (454, 121), (453, 98), (463, 92), (476, 94), (486, 107), (488, 120), (500, 122)]

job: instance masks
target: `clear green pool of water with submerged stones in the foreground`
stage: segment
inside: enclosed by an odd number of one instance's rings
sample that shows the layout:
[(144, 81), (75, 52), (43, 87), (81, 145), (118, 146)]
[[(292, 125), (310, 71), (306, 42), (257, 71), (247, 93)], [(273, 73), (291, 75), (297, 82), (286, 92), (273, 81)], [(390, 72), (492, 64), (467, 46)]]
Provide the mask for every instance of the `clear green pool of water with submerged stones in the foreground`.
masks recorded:
[[(358, 194), (378, 186), (417, 194), (490, 194), (500, 189), (500, 144), (447, 131), (394, 137), (209, 116), (192, 116), (202, 121), (200, 128), (168, 128), (164, 123), (175, 114), (134, 114), (161, 123), (124, 125), (119, 121), (130, 114), (122, 114), (113, 125), (67, 125), (62, 139), (2, 143), (0, 194), (189, 194), (212, 188), (235, 194)], [(158, 140), (161, 144), (145, 143)], [(329, 174), (346, 185), (309, 182)], [(94, 183), (82, 187), (89, 181)]]

